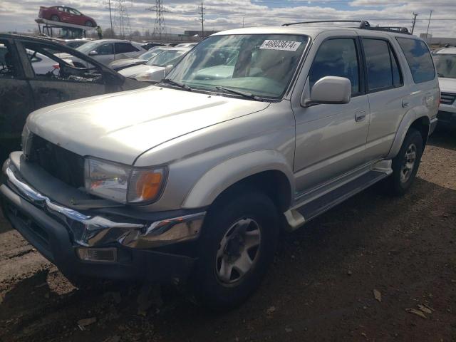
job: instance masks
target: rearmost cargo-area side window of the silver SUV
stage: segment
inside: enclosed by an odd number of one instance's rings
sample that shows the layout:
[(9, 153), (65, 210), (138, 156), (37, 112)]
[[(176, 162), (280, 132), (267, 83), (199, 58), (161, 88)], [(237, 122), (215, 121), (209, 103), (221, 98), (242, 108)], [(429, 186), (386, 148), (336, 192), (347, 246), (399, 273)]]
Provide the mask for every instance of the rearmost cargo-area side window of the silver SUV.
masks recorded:
[(422, 83), (435, 78), (434, 64), (424, 41), (413, 38), (396, 38), (407, 58), (413, 81)]

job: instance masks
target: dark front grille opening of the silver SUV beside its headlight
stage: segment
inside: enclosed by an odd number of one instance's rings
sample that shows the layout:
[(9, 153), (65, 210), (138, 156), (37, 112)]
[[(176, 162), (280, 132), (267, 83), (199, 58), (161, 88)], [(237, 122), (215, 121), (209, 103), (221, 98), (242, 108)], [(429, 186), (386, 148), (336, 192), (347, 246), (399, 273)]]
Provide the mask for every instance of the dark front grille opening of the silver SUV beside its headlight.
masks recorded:
[(81, 155), (33, 135), (27, 157), (58, 180), (76, 188), (84, 186), (84, 158)]

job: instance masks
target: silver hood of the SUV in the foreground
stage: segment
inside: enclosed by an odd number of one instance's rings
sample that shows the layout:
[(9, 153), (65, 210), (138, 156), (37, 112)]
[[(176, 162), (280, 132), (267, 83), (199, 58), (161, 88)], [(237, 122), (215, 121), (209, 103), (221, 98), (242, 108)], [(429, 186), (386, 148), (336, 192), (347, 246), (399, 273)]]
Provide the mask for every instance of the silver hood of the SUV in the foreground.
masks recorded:
[(41, 108), (36, 135), (77, 153), (132, 165), (152, 147), (267, 108), (269, 103), (150, 86)]

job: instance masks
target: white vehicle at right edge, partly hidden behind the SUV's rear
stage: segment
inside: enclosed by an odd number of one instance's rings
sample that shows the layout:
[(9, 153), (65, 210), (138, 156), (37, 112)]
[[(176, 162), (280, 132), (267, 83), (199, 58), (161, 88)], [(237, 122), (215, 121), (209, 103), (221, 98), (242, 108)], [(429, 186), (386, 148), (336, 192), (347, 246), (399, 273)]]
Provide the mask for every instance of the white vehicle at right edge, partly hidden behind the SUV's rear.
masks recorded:
[(440, 86), (437, 125), (456, 129), (456, 48), (440, 48), (432, 54)]

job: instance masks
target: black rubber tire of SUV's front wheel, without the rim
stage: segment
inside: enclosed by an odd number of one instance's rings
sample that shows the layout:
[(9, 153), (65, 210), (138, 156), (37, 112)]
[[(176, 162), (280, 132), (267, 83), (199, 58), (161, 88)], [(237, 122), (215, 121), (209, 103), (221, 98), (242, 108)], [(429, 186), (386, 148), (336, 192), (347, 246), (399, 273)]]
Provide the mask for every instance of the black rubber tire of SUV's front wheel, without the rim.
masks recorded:
[[(254, 261), (239, 280), (232, 284), (224, 283), (218, 274), (218, 263), (224, 257), (217, 258), (217, 252), (222, 249), (222, 239), (230, 229), (234, 229), (232, 227), (236, 222), (249, 219), (255, 222), (254, 227), (259, 227), (261, 232), (259, 247), (253, 247), (257, 248)], [(233, 236), (234, 233), (230, 238)], [(277, 209), (263, 193), (257, 190), (235, 191), (214, 203), (202, 227), (199, 259), (192, 275), (194, 294), (199, 304), (215, 311), (225, 311), (242, 304), (261, 284), (274, 259), (278, 236)], [(244, 242), (247, 243), (247, 239)], [(252, 252), (252, 249), (247, 252)]]

